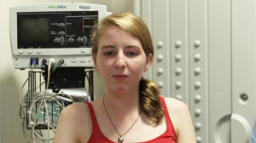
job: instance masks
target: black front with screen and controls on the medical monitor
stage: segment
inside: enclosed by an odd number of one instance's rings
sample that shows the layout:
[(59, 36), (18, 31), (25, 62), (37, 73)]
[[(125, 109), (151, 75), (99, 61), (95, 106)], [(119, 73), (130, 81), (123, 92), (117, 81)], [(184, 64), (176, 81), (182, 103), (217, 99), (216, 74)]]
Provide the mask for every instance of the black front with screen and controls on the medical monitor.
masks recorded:
[(18, 13), (18, 49), (90, 48), (97, 11)]

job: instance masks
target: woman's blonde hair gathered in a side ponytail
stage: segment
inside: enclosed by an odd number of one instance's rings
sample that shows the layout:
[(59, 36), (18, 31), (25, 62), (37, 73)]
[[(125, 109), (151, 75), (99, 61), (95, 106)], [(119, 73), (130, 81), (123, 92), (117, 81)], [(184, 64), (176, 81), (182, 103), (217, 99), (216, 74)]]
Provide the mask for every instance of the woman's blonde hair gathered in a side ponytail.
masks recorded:
[[(111, 14), (103, 18), (93, 31), (92, 54), (96, 56), (98, 43), (102, 34), (110, 26), (118, 26), (123, 31), (128, 32), (142, 43), (143, 50), (148, 58), (149, 54), (154, 55), (152, 38), (146, 24), (135, 14), (121, 13)], [(160, 104), (160, 89), (157, 85), (146, 78), (142, 78), (139, 83), (139, 100), (141, 110), (153, 121), (159, 124), (164, 117), (164, 111)]]

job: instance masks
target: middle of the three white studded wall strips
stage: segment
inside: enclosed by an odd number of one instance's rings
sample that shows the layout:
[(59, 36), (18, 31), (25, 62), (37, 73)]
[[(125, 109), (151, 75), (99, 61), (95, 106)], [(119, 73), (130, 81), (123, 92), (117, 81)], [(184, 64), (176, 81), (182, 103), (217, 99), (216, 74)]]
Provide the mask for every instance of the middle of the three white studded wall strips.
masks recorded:
[(171, 96), (189, 104), (188, 1), (171, 0), (169, 11)]

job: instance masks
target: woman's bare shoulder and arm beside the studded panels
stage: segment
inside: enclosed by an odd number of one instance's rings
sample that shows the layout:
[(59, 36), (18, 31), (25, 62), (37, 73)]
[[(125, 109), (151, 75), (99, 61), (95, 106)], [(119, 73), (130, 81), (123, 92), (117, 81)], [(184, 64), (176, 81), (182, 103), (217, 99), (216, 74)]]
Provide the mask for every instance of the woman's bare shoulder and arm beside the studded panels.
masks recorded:
[(195, 143), (195, 130), (188, 106), (172, 98), (166, 98), (166, 106), (176, 129), (177, 143)]

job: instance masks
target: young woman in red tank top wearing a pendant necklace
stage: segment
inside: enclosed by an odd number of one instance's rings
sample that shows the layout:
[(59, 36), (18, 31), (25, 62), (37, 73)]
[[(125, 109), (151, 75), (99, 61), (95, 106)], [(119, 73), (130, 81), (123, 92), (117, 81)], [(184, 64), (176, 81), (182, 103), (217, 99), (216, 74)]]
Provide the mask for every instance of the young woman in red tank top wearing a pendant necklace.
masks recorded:
[(188, 107), (160, 97), (143, 78), (154, 57), (143, 20), (131, 13), (104, 18), (93, 34), (93, 60), (105, 83), (105, 95), (76, 103), (62, 112), (55, 143), (195, 143)]

